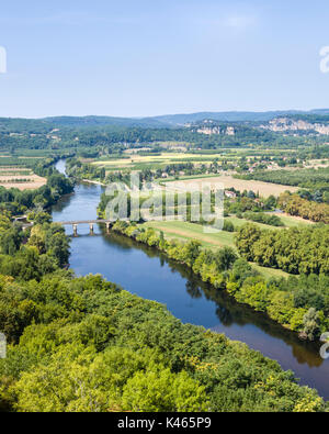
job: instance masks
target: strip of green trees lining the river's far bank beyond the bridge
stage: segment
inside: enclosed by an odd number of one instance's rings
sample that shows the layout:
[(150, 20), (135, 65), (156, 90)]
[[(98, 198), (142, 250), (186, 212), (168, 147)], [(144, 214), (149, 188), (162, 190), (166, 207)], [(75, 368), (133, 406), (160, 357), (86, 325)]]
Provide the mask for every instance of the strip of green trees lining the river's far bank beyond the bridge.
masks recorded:
[[(177, 240), (167, 241), (163, 232), (158, 235), (150, 227), (145, 230), (118, 221), (112, 229), (159, 249), (171, 259), (185, 264), (203, 281), (218, 290), (227, 290), (239, 303), (246, 303), (256, 311), (266, 313), (281, 326), (296, 332), (300, 340), (310, 338), (306, 333), (305, 320), (311, 308), (306, 305), (294, 309), (293, 294), (276, 288), (275, 285), (269, 286), (245, 259), (238, 259), (230, 247), (224, 247), (215, 254), (209, 249), (201, 249), (201, 244), (195, 240), (186, 243)], [(319, 331), (328, 330), (328, 319), (322, 315), (318, 326)]]

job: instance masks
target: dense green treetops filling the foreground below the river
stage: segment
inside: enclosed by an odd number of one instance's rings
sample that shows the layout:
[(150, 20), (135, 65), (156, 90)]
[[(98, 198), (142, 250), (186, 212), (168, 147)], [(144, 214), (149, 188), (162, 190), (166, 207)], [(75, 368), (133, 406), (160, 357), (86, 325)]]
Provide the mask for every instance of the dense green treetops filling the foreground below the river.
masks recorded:
[(0, 360), (2, 410), (325, 410), (275, 361), (100, 276), (1, 277), (0, 300), (22, 324)]

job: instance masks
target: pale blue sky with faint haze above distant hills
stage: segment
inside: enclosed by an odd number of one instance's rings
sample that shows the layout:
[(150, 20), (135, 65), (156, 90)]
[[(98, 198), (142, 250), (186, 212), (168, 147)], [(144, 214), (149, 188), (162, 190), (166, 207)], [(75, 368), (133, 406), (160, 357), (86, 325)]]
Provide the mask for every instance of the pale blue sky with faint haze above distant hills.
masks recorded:
[(328, 19), (328, 0), (5, 2), (0, 116), (327, 108)]

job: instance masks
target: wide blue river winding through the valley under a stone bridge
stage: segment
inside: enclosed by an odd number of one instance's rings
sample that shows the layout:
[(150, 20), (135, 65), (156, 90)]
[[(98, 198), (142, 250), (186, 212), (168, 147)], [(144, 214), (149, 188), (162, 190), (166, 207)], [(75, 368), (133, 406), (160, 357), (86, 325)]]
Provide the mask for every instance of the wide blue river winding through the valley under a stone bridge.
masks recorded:
[[(64, 160), (56, 167), (65, 173)], [(53, 208), (54, 221), (95, 219), (101, 192), (100, 186), (78, 185)], [(66, 231), (72, 235), (72, 227)], [(295, 333), (211, 288), (159, 252), (122, 235), (107, 235), (102, 226), (90, 235), (88, 225), (79, 225), (78, 236), (71, 238), (70, 265), (78, 276), (101, 274), (132, 293), (166, 304), (185, 323), (245, 342), (277, 360), (283, 369), (293, 370), (302, 385), (316, 388), (329, 400), (329, 359), (320, 357), (319, 343), (299, 341)]]

